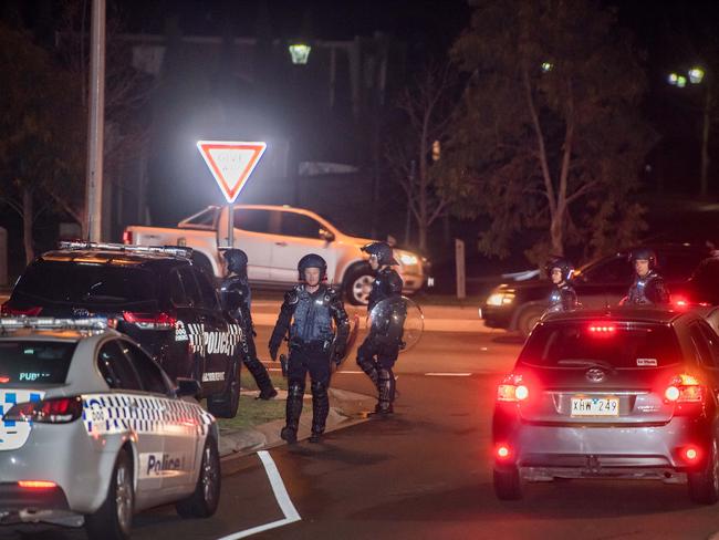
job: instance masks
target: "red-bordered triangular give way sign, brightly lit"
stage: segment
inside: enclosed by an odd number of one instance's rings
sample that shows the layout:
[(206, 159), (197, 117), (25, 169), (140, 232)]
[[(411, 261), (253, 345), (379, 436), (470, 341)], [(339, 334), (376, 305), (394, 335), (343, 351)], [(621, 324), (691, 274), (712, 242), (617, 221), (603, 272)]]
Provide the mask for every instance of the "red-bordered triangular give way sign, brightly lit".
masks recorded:
[(200, 150), (230, 205), (244, 187), (265, 148), (265, 143), (225, 141), (198, 141), (197, 143), (197, 149)]

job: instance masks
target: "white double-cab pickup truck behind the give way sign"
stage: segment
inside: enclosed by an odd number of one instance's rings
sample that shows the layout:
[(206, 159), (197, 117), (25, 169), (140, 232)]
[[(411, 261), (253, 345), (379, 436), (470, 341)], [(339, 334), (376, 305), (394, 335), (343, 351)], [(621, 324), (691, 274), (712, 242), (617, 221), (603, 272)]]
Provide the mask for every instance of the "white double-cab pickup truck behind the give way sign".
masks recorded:
[[(306, 253), (319, 253), (327, 261), (327, 279), (341, 287), (353, 304), (366, 304), (374, 280), (362, 246), (367, 238), (351, 237), (323, 217), (290, 206), (236, 205), (235, 247), (250, 260), (248, 277), (254, 285), (288, 287), (298, 281), (298, 261)], [(187, 246), (194, 259), (215, 277), (222, 277), (221, 247), (229, 245), (228, 209), (210, 206), (180, 221), (177, 228), (129, 226), (123, 242), (138, 246)], [(405, 293), (424, 283), (419, 255), (395, 249), (397, 271)]]

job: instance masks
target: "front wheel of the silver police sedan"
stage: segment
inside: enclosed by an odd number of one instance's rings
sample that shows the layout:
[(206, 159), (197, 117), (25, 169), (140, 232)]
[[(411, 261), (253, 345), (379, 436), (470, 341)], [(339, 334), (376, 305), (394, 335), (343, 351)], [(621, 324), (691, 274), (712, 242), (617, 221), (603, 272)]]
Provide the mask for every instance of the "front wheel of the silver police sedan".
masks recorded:
[(202, 463), (197, 478), (195, 491), (187, 499), (175, 503), (177, 513), (183, 518), (209, 518), (220, 502), (220, 454), (217, 440), (207, 437), (202, 448)]

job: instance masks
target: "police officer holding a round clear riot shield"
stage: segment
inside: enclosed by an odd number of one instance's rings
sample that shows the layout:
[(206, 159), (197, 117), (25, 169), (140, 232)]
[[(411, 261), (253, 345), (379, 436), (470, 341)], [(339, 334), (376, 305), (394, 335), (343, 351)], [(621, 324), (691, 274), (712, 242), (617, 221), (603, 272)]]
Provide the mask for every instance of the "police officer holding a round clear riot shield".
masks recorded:
[[(392, 268), (398, 262), (387, 242), (372, 242), (362, 250), (369, 255), (369, 266), (375, 271), (375, 281), (372, 284), (367, 305), (367, 311), (372, 315), (373, 309), (382, 301), (389, 299), (390, 302), (400, 303), (404, 283)], [(377, 387), (376, 414), (388, 415), (394, 412), (395, 374), (392, 368), (402, 345), (402, 329), (399, 332), (392, 333), (373, 323), (369, 334), (357, 350), (357, 364)]]

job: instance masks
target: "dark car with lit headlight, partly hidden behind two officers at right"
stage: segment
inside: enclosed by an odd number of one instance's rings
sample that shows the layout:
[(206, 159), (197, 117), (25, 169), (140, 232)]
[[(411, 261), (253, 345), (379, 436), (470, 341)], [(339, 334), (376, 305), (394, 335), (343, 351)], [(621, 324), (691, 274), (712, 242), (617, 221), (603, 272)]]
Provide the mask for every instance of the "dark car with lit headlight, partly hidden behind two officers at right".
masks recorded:
[[(649, 247), (657, 253), (658, 270), (673, 298), (686, 289), (692, 271), (709, 256), (707, 248), (686, 243)], [(574, 272), (572, 284), (584, 308), (616, 305), (626, 295), (634, 280), (634, 267), (628, 261), (631, 251), (592, 261)], [(484, 301), (481, 318), (489, 328), (528, 335), (546, 310), (551, 289), (549, 280), (502, 283)]]

